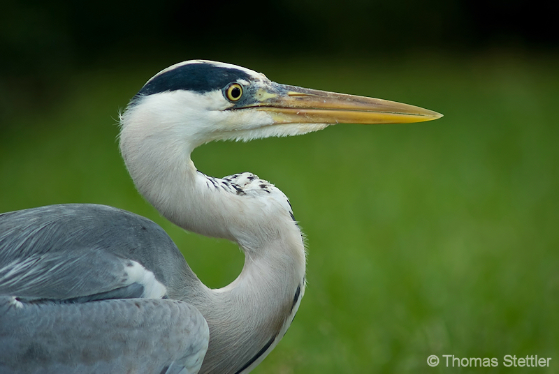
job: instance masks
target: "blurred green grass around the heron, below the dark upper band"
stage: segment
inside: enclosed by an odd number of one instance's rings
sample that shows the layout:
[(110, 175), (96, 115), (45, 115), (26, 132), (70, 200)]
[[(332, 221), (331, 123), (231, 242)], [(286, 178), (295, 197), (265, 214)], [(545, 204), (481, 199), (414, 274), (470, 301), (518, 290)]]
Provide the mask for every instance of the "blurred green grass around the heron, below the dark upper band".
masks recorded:
[[(512, 370), (505, 354), (537, 354), (552, 357), (538, 373), (558, 371), (557, 57), (228, 62), (445, 115), (194, 152), (206, 174), (251, 171), (282, 188), (307, 234), (305, 298), (255, 373), (488, 371), (430, 368), (430, 354), (497, 357), (491, 373)], [(13, 117), (0, 138), (0, 211), (62, 202), (134, 211), (220, 287), (242, 267), (238, 249), (159, 217), (117, 151), (117, 109), (164, 67), (75, 73), (55, 105)]]

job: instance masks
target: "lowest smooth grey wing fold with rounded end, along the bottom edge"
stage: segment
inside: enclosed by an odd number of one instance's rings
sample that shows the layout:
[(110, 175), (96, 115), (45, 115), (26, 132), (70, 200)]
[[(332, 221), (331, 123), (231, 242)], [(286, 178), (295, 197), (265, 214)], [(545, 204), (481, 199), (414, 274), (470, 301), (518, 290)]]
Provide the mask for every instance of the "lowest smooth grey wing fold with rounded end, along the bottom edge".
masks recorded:
[(210, 332), (187, 303), (0, 297), (0, 373), (198, 373)]

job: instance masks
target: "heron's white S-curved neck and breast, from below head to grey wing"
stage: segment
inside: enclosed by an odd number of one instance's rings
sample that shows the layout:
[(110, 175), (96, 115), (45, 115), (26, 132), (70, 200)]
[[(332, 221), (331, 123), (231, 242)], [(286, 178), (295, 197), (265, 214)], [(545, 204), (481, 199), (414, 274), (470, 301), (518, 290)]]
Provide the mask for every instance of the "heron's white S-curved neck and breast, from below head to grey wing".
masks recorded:
[(126, 130), (122, 156), (140, 193), (176, 225), (235, 241), (244, 251), (245, 266), (230, 285), (210, 290), (184, 280), (169, 297), (188, 301), (208, 321), (209, 364), (201, 373), (250, 370), (282, 338), (305, 289), (305, 248), (289, 202), (259, 179), (198, 172), (184, 139), (161, 140), (164, 132), (131, 137)]

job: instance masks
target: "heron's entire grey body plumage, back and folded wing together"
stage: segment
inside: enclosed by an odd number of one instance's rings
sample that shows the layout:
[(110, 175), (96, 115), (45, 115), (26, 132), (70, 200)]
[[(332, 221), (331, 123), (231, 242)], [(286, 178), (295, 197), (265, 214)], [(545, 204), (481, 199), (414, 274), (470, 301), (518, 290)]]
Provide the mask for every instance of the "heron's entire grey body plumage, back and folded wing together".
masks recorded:
[(0, 372), (196, 373), (207, 324), (159, 299), (189, 281), (199, 282), (173, 241), (135, 214), (93, 204), (1, 214)]

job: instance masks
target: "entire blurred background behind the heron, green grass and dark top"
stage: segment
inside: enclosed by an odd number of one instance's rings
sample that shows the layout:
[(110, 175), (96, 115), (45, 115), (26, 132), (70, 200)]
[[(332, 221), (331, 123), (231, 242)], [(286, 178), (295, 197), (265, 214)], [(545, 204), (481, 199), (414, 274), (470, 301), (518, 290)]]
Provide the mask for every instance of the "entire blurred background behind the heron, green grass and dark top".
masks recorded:
[[(0, 211), (94, 202), (136, 212), (221, 287), (240, 272), (240, 251), (166, 222), (119, 156), (118, 111), (147, 79), (215, 59), (427, 107), (445, 117), (194, 152), (206, 174), (251, 171), (276, 184), (307, 235), (305, 298), (254, 373), (558, 373), (557, 10), (495, 0), (8, 3)], [(443, 354), (499, 366), (446, 368)], [(506, 368), (506, 354), (551, 366)]]

